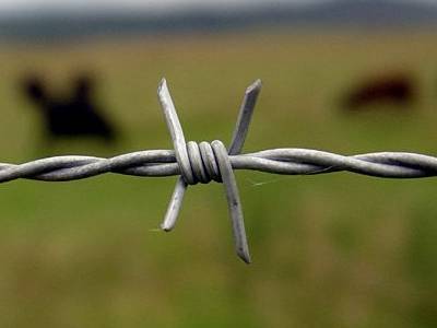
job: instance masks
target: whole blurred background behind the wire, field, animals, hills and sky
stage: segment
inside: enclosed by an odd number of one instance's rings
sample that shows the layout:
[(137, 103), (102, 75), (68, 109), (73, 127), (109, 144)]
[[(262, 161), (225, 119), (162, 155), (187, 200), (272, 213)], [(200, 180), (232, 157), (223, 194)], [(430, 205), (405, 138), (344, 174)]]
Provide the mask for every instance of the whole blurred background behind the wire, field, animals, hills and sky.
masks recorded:
[[(437, 3), (0, 0), (0, 154), (170, 149), (188, 140), (437, 154)], [(0, 327), (436, 327), (437, 184), (236, 172), (253, 263), (223, 186), (103, 175), (1, 184)]]

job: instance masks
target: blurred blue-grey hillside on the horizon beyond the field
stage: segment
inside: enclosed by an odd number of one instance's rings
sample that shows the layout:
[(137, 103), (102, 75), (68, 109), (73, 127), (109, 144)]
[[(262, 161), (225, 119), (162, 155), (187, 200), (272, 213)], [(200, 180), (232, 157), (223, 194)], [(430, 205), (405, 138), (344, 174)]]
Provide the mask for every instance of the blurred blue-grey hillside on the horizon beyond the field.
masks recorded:
[(423, 27), (437, 25), (437, 5), (390, 0), (338, 0), (308, 5), (205, 8), (157, 15), (144, 11), (27, 12), (0, 19), (0, 39), (66, 40), (90, 36), (220, 32), (283, 27)]

